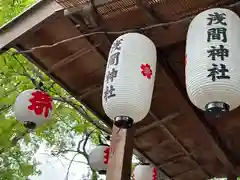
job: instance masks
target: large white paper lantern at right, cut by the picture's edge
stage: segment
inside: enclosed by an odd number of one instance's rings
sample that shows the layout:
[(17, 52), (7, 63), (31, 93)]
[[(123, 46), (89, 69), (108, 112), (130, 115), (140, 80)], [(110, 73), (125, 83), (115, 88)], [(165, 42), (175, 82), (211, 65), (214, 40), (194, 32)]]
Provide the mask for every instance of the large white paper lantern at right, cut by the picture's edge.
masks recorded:
[(240, 19), (222, 8), (191, 22), (186, 42), (186, 88), (191, 102), (218, 117), (240, 104)]

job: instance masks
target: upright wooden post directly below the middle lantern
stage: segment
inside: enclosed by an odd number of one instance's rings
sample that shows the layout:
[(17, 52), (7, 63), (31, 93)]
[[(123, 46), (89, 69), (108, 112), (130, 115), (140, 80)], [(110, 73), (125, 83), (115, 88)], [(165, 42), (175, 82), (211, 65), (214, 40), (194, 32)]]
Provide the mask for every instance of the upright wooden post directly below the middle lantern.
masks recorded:
[(134, 131), (113, 125), (107, 180), (130, 180)]

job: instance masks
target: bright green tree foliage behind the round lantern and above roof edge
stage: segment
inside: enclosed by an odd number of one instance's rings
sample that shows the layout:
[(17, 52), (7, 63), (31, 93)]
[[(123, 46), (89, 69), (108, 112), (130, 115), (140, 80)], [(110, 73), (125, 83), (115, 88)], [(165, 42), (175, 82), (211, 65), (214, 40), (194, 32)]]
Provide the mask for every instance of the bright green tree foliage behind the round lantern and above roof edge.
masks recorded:
[[(0, 25), (11, 20), (35, 0), (0, 0)], [(11, 49), (0, 55), (0, 180), (26, 180), (30, 175), (40, 174), (34, 154), (44, 142), (52, 152), (64, 154), (76, 148), (75, 137), (88, 134), (95, 129), (89, 139), (99, 143), (101, 131), (85, 118), (88, 117), (102, 125), (95, 116), (82, 107), (58, 84), (31, 64), (23, 55)], [(55, 101), (54, 117), (34, 132), (26, 130), (14, 117), (12, 105), (24, 90), (33, 89), (39, 82)], [(63, 99), (68, 99), (68, 102)], [(88, 159), (87, 152), (81, 152)], [(90, 179), (98, 179), (95, 171)]]

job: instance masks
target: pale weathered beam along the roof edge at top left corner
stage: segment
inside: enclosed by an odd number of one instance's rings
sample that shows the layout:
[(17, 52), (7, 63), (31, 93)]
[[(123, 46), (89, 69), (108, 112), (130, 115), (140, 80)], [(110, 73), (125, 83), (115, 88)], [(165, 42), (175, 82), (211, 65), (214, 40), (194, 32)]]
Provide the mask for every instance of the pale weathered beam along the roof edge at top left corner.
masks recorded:
[(63, 14), (63, 8), (58, 3), (50, 0), (41, 1), (0, 29), (0, 49), (13, 44), (13, 41), (29, 30), (36, 30), (40, 24), (60, 14)]

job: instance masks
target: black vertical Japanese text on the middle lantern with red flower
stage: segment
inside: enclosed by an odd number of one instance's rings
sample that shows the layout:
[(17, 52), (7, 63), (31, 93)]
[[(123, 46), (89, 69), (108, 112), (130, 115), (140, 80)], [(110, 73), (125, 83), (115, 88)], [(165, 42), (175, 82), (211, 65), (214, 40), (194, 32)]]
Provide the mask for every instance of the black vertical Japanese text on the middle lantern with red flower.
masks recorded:
[(107, 72), (105, 76), (105, 82), (106, 87), (104, 90), (104, 99), (107, 101), (109, 98), (112, 98), (116, 96), (115, 94), (115, 87), (113, 85), (113, 82), (115, 78), (118, 75), (118, 63), (119, 63), (119, 57), (120, 57), (120, 51), (121, 51), (121, 45), (122, 45), (123, 39), (117, 39), (111, 49), (110, 54), (108, 58), (108, 66), (107, 66)]

